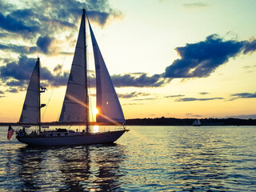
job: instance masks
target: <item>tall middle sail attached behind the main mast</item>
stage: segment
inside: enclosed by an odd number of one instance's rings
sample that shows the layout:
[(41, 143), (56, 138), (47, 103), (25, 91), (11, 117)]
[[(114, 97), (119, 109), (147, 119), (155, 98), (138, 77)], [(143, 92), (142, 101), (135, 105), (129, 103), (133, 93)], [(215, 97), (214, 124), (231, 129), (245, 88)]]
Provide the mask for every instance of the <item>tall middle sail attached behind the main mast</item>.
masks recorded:
[(78, 34), (78, 42), (74, 51), (74, 58), (70, 70), (70, 78), (66, 87), (61, 116), (59, 122), (85, 122), (86, 121), (86, 63), (85, 63), (85, 25), (82, 18)]

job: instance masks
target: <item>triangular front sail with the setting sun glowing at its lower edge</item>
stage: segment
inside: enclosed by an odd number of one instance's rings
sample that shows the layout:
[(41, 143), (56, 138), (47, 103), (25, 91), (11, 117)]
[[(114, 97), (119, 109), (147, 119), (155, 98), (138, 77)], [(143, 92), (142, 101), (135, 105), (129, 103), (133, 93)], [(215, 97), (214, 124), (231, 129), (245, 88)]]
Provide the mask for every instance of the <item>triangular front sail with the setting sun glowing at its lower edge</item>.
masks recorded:
[[(89, 22), (90, 26), (90, 22)], [(122, 122), (125, 118), (122, 113), (122, 107), (118, 100), (118, 95), (114, 90), (110, 74), (106, 69), (105, 62), (99, 50), (98, 43), (94, 37), (94, 32), (90, 26), (90, 36), (94, 48), (94, 62), (96, 70), (96, 106), (98, 114), (97, 122)]]

